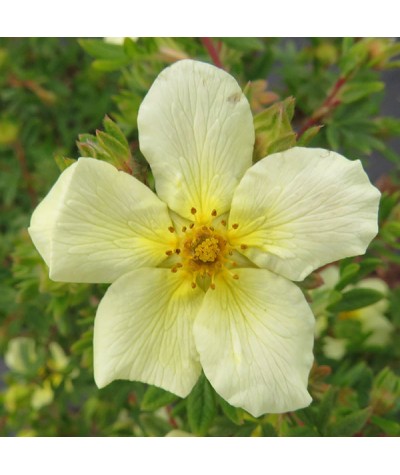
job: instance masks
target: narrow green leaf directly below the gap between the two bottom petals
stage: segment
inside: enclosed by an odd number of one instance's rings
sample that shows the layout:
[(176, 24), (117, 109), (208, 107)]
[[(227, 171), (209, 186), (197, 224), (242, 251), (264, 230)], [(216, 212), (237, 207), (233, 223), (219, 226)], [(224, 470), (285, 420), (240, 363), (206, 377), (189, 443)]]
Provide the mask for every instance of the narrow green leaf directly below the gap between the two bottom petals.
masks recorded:
[(204, 375), (200, 376), (187, 398), (186, 407), (191, 432), (204, 436), (216, 414), (214, 390)]

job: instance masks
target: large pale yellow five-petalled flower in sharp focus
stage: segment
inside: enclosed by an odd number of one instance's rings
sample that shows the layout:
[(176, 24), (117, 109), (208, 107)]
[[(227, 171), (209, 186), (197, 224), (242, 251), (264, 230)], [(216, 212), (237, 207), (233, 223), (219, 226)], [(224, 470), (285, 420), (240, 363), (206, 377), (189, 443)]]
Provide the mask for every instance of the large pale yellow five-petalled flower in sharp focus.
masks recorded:
[(249, 104), (201, 62), (158, 76), (138, 127), (158, 196), (80, 158), (29, 228), (51, 279), (111, 283), (95, 319), (97, 385), (143, 381), (185, 397), (203, 370), (254, 416), (307, 406), (314, 317), (291, 280), (365, 252), (378, 190), (359, 161), (322, 149), (251, 166)]

